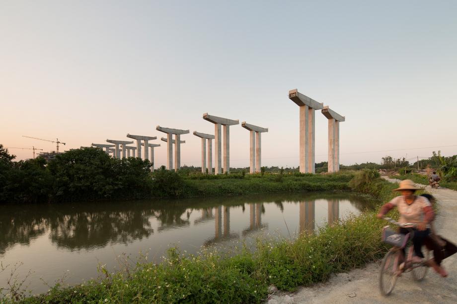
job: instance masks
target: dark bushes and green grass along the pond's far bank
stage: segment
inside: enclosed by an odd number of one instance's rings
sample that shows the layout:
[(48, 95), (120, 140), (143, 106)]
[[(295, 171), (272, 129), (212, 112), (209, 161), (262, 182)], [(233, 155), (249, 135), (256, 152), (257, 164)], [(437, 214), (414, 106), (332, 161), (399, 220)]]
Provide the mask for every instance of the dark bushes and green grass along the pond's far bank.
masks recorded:
[(49, 163), (14, 161), (0, 145), (0, 203), (43, 203), (217, 196), (266, 192), (350, 190), (350, 172), (230, 175), (177, 173), (140, 158), (115, 159), (98, 148), (73, 149)]

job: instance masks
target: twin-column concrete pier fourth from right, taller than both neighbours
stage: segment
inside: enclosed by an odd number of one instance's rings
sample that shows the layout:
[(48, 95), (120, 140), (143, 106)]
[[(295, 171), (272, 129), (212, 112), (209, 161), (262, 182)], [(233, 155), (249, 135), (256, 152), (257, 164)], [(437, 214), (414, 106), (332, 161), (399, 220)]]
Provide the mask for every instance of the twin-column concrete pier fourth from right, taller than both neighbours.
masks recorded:
[[(224, 173), (230, 173), (230, 125), (238, 124), (238, 120), (229, 120), (227, 118), (217, 117), (203, 114), (203, 119), (214, 123), (214, 173), (222, 173), (222, 153), (221, 148), (224, 147)], [(224, 144), (221, 141), (221, 125), (224, 126)]]

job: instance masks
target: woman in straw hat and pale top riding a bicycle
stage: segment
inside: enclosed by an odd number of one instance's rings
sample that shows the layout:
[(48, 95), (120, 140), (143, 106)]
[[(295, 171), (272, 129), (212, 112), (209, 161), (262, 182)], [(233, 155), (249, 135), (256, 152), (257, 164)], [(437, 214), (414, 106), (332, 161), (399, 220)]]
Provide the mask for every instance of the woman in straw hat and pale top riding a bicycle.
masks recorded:
[[(387, 212), (389, 212), (389, 210), (397, 207), (398, 212), (400, 213), (400, 223), (415, 224), (416, 227), (412, 228), (414, 231), (414, 237), (412, 240), (414, 244), (415, 254), (415, 256), (413, 256), (414, 263), (421, 263), (422, 258), (424, 258), (421, 247), (424, 243), (425, 238), (427, 238), (427, 236), (430, 234), (429, 223), (433, 221), (435, 217), (432, 205), (428, 199), (423, 196), (414, 195), (414, 192), (419, 189), (420, 188), (416, 187), (414, 182), (411, 180), (401, 181), (400, 186), (394, 189), (394, 191), (400, 191), (401, 195), (382, 205), (381, 210), (377, 215), (377, 217), (381, 219), (385, 214), (387, 214)], [(408, 229), (400, 228), (400, 233), (407, 234)], [(435, 271), (442, 274), (441, 267), (433, 260), (430, 260), (427, 263), (429, 266), (432, 266)]]

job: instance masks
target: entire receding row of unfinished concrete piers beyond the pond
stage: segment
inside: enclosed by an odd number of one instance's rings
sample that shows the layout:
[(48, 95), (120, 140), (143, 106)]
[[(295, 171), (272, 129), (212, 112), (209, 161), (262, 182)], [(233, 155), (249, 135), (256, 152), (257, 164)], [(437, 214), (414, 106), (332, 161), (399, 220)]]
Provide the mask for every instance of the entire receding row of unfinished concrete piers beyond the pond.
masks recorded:
[[(328, 106), (319, 103), (297, 89), (289, 91), (289, 99), (300, 107), (300, 172), (315, 173), (315, 110), (321, 110), (322, 114), (328, 119), (328, 172), (339, 171), (339, 123), (345, 121), (345, 117), (332, 111)], [(208, 113), (203, 114), (203, 119), (214, 123), (214, 135), (194, 131), (193, 134), (202, 140), (202, 173), (213, 173), (213, 142), (214, 139), (214, 173), (230, 173), (230, 125), (239, 124), (238, 120), (222, 118)], [(249, 131), (249, 173), (258, 173), (262, 167), (261, 154), (261, 133), (268, 132), (268, 128), (241, 122), (241, 126)], [(166, 133), (166, 138), (161, 140), (166, 142), (168, 170), (177, 171), (181, 168), (181, 135), (188, 134), (189, 130), (161, 127), (155, 128), (157, 131)], [(174, 135), (174, 139), (173, 139)], [(143, 136), (127, 134), (128, 138), (137, 141), (136, 147), (128, 146), (133, 141), (112, 140), (106, 141), (108, 144), (94, 144), (92, 146), (104, 148), (106, 153), (112, 153), (113, 157), (122, 158), (142, 156), (142, 146), (144, 146), (143, 159), (152, 162), (151, 170), (154, 170), (154, 147), (159, 144), (149, 143), (150, 140), (157, 139), (156, 136)], [(174, 144), (174, 162), (173, 162)], [(114, 147), (114, 149), (113, 149)], [(148, 149), (149, 148), (149, 149)], [(151, 153), (149, 153), (151, 151)]]

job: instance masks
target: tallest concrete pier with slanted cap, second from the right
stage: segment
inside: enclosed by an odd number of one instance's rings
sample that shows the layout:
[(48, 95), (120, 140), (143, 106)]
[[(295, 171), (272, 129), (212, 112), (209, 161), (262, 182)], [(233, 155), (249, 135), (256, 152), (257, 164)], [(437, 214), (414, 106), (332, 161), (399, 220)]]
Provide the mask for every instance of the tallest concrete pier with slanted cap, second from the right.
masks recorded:
[(323, 109), (324, 105), (297, 89), (289, 91), (289, 99), (300, 107), (300, 172), (315, 173), (315, 110)]

